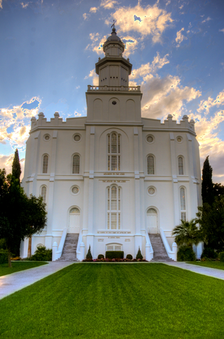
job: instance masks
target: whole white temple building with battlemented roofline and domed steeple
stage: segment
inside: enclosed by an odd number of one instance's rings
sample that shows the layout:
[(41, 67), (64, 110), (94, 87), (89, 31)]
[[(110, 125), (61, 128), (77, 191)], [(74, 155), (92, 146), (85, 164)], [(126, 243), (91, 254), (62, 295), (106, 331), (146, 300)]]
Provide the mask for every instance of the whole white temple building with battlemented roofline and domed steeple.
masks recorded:
[[(46, 228), (32, 236), (32, 254), (45, 245), (55, 260), (73, 234), (78, 260), (89, 245), (93, 258), (106, 250), (135, 257), (140, 248), (151, 260), (151, 235), (159, 234), (176, 260), (172, 230), (202, 204), (195, 122), (187, 115), (180, 123), (171, 114), (163, 123), (141, 117), (143, 94), (129, 86), (124, 48), (113, 28), (95, 64), (99, 85), (88, 85), (86, 117), (32, 117), (22, 186), (41, 195), (48, 212)], [(21, 257), (27, 249), (26, 239)], [(195, 250), (199, 257), (201, 248)]]

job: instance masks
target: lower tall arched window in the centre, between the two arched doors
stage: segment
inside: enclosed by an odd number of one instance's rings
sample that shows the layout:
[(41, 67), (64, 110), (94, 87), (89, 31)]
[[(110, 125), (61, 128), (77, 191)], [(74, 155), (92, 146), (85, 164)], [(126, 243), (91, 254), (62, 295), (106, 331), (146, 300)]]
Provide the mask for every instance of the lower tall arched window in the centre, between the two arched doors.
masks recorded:
[(107, 188), (107, 229), (121, 229), (121, 188)]

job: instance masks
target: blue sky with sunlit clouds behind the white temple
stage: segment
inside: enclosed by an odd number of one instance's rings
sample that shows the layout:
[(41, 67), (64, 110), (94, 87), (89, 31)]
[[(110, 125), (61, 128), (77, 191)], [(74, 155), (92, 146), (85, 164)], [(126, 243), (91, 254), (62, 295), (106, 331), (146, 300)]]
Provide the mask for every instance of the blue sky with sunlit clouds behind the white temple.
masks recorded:
[[(112, 20), (142, 115), (196, 122), (201, 162), (224, 184), (224, 1), (0, 0), (0, 168), (25, 158), (30, 119), (86, 115)], [(22, 165), (24, 160), (22, 160)]]

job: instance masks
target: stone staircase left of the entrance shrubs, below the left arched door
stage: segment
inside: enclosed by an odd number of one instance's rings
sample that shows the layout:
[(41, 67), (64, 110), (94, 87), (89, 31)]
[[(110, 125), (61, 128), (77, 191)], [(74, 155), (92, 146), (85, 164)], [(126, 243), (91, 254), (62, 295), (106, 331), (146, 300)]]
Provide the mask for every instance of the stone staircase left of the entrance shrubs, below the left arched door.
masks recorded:
[(77, 243), (79, 234), (69, 233), (65, 239), (62, 255), (56, 262), (77, 262)]

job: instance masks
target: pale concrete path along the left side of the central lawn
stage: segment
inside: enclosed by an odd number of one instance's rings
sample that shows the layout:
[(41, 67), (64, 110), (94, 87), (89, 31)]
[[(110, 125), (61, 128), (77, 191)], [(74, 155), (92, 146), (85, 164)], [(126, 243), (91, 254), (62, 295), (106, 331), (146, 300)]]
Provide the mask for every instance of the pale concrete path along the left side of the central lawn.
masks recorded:
[(0, 299), (32, 285), (32, 283), (36, 283), (36, 281), (50, 276), (71, 264), (73, 262), (49, 262), (46, 265), (25, 269), (24, 271), (18, 271), (7, 276), (0, 276)]

